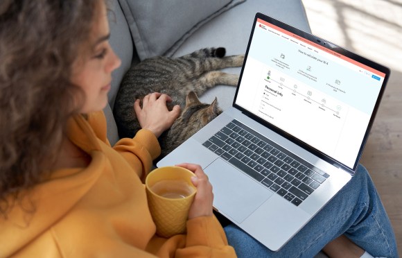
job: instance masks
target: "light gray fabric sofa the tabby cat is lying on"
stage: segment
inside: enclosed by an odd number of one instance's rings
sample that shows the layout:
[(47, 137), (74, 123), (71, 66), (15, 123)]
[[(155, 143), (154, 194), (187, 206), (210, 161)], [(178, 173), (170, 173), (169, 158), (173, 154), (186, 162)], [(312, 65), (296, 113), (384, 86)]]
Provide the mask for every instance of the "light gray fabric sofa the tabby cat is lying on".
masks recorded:
[[(310, 32), (301, 0), (112, 0), (110, 9), (110, 43), (122, 61), (112, 74), (110, 105), (105, 108), (111, 144), (119, 139), (112, 113), (114, 99), (130, 65), (154, 55), (181, 56), (209, 46), (224, 46), (227, 55), (245, 53), (256, 12)], [(226, 70), (239, 74), (241, 68)], [(200, 100), (211, 103), (218, 97), (225, 110), (235, 90), (219, 85)]]

